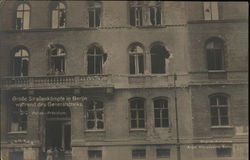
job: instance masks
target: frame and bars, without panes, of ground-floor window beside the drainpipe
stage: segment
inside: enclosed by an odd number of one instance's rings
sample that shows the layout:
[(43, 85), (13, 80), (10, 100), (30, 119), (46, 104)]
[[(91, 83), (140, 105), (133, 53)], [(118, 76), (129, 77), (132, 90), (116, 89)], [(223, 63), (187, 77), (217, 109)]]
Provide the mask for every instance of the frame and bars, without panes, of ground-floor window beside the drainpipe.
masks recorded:
[[(155, 102), (156, 101), (165, 101), (166, 102), (166, 104), (167, 104), (167, 107), (166, 107), (166, 109), (164, 109), (164, 108), (160, 108), (160, 109), (158, 109), (158, 110), (160, 110), (160, 118), (157, 118), (157, 119), (159, 119), (160, 120), (160, 126), (158, 127), (158, 126), (156, 126), (156, 116), (155, 116), (155, 111), (156, 111), (156, 109), (155, 109)], [(170, 127), (170, 117), (169, 117), (169, 100), (168, 100), (168, 98), (166, 98), (166, 97), (156, 97), (156, 98), (153, 98), (153, 110), (154, 110), (154, 127), (155, 128), (169, 128)], [(163, 110), (167, 110), (167, 118), (163, 118)], [(164, 119), (167, 119), (167, 126), (163, 126), (163, 120)]]

